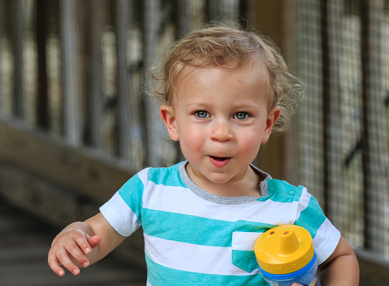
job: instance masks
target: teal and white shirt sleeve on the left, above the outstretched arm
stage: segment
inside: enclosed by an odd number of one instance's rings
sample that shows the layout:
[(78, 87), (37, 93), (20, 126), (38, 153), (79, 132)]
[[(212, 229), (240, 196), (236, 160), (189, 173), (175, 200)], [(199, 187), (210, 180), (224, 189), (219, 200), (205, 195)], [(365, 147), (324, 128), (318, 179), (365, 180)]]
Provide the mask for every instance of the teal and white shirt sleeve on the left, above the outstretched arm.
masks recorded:
[[(130, 236), (141, 225), (144, 182), (140, 177), (148, 170), (142, 170), (128, 180), (112, 198), (100, 207), (100, 212), (120, 235)], [(140, 174), (143, 174), (143, 176)]]

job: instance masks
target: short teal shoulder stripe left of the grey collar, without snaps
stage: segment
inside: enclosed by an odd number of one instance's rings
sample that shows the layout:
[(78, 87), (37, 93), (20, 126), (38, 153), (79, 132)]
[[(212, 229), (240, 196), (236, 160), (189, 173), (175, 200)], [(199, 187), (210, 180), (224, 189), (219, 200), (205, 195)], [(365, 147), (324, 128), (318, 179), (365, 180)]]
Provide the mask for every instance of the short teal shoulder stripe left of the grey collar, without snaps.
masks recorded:
[(187, 188), (177, 170), (178, 165), (180, 165), (180, 163), (169, 168), (150, 168), (149, 181), (152, 181), (157, 185)]

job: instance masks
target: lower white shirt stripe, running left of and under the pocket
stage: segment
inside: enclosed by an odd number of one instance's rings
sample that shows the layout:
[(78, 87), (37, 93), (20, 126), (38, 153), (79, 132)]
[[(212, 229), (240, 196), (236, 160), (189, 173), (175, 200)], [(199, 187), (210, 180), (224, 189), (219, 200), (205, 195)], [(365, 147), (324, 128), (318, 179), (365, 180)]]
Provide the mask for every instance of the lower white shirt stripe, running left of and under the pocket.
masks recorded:
[(254, 275), (232, 264), (231, 247), (202, 246), (144, 234), (145, 253), (155, 263), (177, 270), (217, 275)]

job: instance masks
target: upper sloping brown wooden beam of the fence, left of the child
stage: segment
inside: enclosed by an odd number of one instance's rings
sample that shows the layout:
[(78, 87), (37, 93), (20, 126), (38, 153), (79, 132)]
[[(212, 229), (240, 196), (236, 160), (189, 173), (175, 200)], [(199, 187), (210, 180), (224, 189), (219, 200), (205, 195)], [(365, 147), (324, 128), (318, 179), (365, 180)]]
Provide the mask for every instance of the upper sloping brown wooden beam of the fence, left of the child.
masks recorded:
[(0, 161), (93, 198), (108, 200), (136, 171), (124, 161), (72, 147), (18, 121), (0, 119)]

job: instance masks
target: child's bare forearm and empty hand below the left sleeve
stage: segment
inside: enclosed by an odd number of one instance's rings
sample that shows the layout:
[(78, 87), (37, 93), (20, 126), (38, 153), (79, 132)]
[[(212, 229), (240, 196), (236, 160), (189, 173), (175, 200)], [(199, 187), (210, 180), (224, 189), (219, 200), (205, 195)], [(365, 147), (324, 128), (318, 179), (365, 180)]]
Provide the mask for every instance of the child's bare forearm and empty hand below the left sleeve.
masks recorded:
[(102, 259), (125, 238), (98, 213), (84, 222), (72, 223), (64, 228), (51, 244), (48, 262), (60, 276), (65, 274), (60, 265), (77, 275), (79, 267), (87, 267)]

